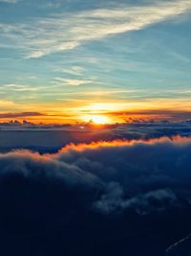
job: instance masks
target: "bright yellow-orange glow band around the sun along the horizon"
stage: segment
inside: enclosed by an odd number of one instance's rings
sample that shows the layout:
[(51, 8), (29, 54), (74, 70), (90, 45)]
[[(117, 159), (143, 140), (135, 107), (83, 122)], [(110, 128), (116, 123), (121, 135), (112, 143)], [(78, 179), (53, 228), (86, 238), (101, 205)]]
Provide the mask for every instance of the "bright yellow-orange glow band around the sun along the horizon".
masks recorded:
[[(105, 99), (103, 102), (94, 103), (91, 101), (72, 101), (63, 105), (55, 103), (53, 105), (16, 105), (11, 111), (0, 111), (0, 123), (23, 120), (34, 124), (63, 125), (80, 124), (83, 122), (95, 125), (131, 123), (135, 120), (169, 120), (184, 121), (190, 116), (190, 102), (172, 100), (117, 101)], [(26, 113), (26, 115), (23, 115)], [(36, 115), (35, 115), (36, 113)], [(17, 115), (18, 114), (18, 115)], [(9, 116), (10, 115), (10, 116)]]

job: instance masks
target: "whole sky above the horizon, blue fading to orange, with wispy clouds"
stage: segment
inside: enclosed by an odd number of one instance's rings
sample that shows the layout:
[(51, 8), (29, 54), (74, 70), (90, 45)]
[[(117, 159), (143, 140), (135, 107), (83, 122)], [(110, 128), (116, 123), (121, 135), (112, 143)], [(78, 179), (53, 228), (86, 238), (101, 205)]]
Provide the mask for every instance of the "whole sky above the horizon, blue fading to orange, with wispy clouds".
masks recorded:
[(191, 118), (190, 13), (190, 0), (0, 0), (0, 122)]

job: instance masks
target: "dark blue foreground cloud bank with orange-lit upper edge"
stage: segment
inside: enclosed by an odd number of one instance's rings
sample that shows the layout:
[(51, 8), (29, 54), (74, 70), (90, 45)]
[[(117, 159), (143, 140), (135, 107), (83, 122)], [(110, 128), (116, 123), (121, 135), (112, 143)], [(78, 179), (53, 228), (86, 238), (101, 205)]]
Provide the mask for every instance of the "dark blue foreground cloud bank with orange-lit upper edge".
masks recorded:
[(1, 153), (1, 255), (165, 255), (191, 231), (190, 159), (182, 137)]

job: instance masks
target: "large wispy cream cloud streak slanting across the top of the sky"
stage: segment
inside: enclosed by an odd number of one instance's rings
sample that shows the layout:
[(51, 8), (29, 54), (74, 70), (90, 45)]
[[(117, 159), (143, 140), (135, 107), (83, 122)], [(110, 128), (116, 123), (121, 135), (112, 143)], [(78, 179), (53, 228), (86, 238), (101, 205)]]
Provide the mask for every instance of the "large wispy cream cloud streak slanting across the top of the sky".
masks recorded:
[(190, 10), (191, 2), (182, 0), (160, 1), (149, 6), (64, 12), (29, 20), (25, 24), (1, 24), (0, 32), (12, 46), (23, 49), (27, 58), (41, 58), (109, 35), (138, 31)]

